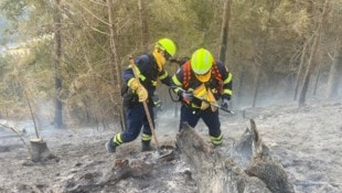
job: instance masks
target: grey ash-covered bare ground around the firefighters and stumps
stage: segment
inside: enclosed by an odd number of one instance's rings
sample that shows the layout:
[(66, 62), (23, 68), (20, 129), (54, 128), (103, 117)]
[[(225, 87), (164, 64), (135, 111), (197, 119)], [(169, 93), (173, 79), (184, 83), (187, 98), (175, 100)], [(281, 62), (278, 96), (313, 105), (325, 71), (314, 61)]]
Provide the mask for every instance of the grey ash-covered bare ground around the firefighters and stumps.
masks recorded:
[[(296, 192), (342, 192), (341, 100), (312, 99), (301, 108), (296, 104), (248, 108), (234, 116), (222, 112), (224, 144), (218, 151), (228, 152), (249, 127), (249, 118), (254, 118), (265, 143), (288, 172)], [(174, 146), (178, 118), (164, 112), (158, 122), (160, 143)], [(15, 127), (23, 128), (19, 124)], [(34, 132), (30, 127), (25, 130), (28, 143)], [(209, 141), (203, 122), (196, 130)], [(195, 176), (181, 156), (167, 160), (159, 159), (157, 151), (140, 152), (140, 139), (108, 154), (104, 144), (115, 131), (118, 129), (43, 128), (41, 137), (56, 158), (34, 163), (15, 133), (0, 128), (0, 192), (196, 192)], [(118, 160), (129, 160), (138, 172), (122, 175), (116, 167)]]

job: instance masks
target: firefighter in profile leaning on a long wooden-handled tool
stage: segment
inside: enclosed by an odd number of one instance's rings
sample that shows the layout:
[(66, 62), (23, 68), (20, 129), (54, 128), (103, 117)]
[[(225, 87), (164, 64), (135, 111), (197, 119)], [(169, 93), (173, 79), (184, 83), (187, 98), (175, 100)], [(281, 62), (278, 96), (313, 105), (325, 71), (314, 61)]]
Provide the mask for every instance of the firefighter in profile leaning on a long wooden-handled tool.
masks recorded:
[(137, 66), (135, 72), (138, 73), (139, 81), (136, 79), (131, 66), (124, 71), (122, 77), (127, 89), (122, 89), (121, 95), (124, 97), (127, 129), (116, 133), (107, 141), (106, 149), (109, 153), (115, 152), (118, 146), (135, 140), (139, 136), (141, 128), (141, 151), (151, 150), (152, 132), (142, 101), (147, 103), (154, 125), (152, 96), (158, 79), (168, 86), (172, 83), (171, 76), (164, 71), (163, 65), (174, 56), (175, 51), (177, 47), (172, 40), (160, 39), (156, 43), (152, 53), (142, 54), (133, 61)]

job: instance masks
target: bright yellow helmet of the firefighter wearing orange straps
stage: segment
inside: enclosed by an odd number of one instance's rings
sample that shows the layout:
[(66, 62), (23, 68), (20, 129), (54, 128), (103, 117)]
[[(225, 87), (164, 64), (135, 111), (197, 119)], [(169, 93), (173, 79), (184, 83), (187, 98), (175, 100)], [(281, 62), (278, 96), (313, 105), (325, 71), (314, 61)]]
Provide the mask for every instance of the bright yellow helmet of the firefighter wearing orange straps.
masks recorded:
[(191, 68), (201, 82), (207, 82), (211, 77), (213, 55), (205, 49), (196, 50), (191, 56)]

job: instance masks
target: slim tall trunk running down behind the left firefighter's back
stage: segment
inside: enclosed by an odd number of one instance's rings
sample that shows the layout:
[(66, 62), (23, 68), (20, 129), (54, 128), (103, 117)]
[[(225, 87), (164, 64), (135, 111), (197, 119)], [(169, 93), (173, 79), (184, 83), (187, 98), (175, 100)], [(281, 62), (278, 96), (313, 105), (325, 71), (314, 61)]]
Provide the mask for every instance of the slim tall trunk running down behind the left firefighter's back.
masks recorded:
[(116, 26), (114, 23), (114, 12), (113, 12), (113, 0), (108, 0), (107, 1), (107, 7), (108, 7), (108, 20), (109, 20), (109, 32), (110, 32), (110, 60), (109, 60), (109, 65), (111, 66), (113, 69), (113, 85), (114, 87), (117, 87), (117, 101), (115, 101), (118, 111), (119, 111), (119, 119), (120, 119), (120, 124), (121, 124), (121, 130), (126, 129), (126, 120), (125, 120), (125, 110), (124, 110), (124, 104), (122, 104), (122, 98), (120, 97), (120, 90), (121, 90), (121, 85), (122, 85), (122, 81), (121, 81), (121, 65), (118, 61), (120, 61), (119, 55), (118, 55), (118, 51), (117, 51), (117, 46), (116, 46)]

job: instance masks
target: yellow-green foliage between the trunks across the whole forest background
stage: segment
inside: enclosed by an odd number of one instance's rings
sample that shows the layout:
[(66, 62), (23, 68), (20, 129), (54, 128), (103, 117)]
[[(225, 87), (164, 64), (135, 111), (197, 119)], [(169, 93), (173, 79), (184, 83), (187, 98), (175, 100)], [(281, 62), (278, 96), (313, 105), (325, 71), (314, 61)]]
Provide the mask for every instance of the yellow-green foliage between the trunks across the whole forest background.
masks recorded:
[[(119, 97), (119, 90), (116, 89), (115, 66), (110, 57), (107, 1), (61, 2), (63, 90), (58, 97), (67, 111), (66, 116), (75, 122), (113, 121), (117, 115), (115, 98)], [(127, 56), (140, 53), (142, 49), (138, 2), (113, 2), (118, 63), (126, 68)], [(178, 56), (190, 56), (194, 50), (204, 46), (218, 57), (224, 2), (146, 1), (150, 50), (158, 39), (168, 36), (177, 42)], [(227, 66), (234, 78), (239, 79), (239, 74), (245, 73), (246, 85), (253, 85), (255, 72), (260, 67), (263, 85), (267, 87), (296, 73), (303, 43), (316, 32), (321, 3), (318, 0), (233, 1)], [(329, 22), (324, 23), (325, 35), (322, 36), (319, 53), (323, 61), (329, 60), (327, 53), (333, 53), (335, 39), (342, 31), (341, 25), (336, 24), (341, 21), (341, 7), (339, 0), (331, 1)], [(52, 100), (55, 73), (54, 8), (54, 1), (1, 1), (0, 11), (10, 22), (8, 32), (17, 35), (17, 42), (31, 42), (25, 45), (30, 50), (29, 55), (0, 60), (1, 107), (24, 104), (18, 73), (29, 85), (34, 98)], [(170, 74), (177, 71), (175, 66), (167, 66)]]

